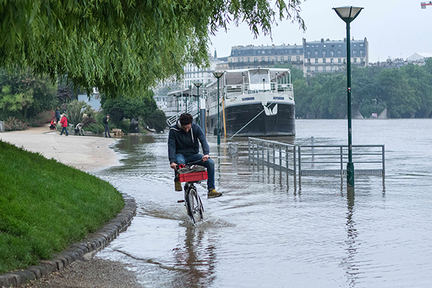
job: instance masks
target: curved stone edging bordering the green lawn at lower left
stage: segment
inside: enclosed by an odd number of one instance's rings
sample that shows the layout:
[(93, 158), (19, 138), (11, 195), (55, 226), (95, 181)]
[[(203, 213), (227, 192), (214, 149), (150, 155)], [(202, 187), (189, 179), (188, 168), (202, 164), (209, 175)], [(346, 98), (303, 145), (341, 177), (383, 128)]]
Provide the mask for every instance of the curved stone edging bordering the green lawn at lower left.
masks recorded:
[(102, 250), (109, 242), (117, 238), (119, 233), (127, 229), (132, 218), (136, 215), (135, 199), (126, 194), (123, 194), (123, 198), (124, 208), (117, 214), (116, 218), (109, 220), (96, 233), (89, 238), (70, 245), (53, 260), (42, 260), (38, 266), (0, 274), (0, 287), (20, 287), (28, 280), (40, 279), (55, 271), (65, 269), (72, 262), (82, 258), (89, 252)]

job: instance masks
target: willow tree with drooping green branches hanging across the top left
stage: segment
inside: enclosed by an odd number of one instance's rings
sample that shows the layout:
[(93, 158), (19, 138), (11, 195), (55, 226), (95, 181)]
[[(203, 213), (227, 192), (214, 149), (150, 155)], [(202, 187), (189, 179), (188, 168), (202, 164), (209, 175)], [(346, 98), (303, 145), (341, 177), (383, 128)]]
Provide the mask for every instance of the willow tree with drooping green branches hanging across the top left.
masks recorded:
[(297, 22), (301, 0), (0, 0), (0, 67), (31, 67), (55, 80), (134, 95), (207, 65), (209, 36), (228, 23), (271, 33)]

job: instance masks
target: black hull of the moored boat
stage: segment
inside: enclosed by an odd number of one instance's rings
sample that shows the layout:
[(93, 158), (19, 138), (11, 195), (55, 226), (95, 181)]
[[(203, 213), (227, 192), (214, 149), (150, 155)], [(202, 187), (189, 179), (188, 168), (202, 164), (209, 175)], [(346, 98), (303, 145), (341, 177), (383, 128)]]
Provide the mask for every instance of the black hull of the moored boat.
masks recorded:
[[(276, 103), (273, 103), (270, 105), (270, 108), (274, 110), (275, 105)], [(262, 112), (263, 109), (264, 106), (261, 103), (225, 107), (227, 136), (232, 136), (237, 132), (236, 136), (239, 137), (292, 136), (296, 134), (295, 105), (291, 103), (277, 103), (277, 113), (272, 115)], [(254, 119), (254, 117), (256, 118)], [(217, 133), (217, 114), (208, 117), (207, 127), (210, 132), (214, 131), (215, 134)], [(220, 115), (220, 129), (221, 134), (223, 134), (224, 122), (222, 111)]]

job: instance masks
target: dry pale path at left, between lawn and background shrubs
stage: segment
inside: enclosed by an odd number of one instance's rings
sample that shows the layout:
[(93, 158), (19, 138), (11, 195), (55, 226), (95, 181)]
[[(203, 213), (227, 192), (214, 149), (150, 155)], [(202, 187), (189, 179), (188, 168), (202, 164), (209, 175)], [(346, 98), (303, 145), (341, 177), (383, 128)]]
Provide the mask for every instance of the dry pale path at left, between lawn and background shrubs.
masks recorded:
[(73, 166), (82, 171), (95, 171), (119, 165), (119, 156), (109, 145), (116, 140), (90, 136), (60, 136), (48, 127), (0, 133), (0, 139), (24, 149), (39, 152), (48, 159)]

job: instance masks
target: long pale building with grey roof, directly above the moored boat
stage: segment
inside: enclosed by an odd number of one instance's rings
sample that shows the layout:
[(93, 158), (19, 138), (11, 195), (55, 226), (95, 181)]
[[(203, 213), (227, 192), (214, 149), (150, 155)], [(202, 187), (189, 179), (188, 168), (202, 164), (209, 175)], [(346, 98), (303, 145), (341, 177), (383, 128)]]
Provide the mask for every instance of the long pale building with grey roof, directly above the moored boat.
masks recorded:
[(229, 70), (274, 68), (277, 63), (290, 63), (303, 70), (303, 46), (234, 46), (228, 56)]

